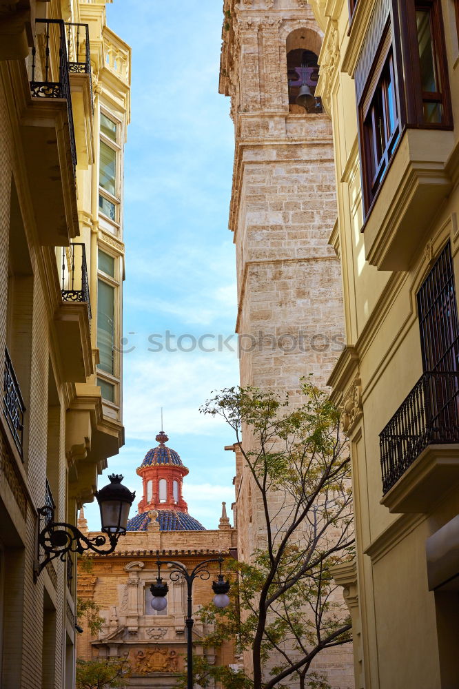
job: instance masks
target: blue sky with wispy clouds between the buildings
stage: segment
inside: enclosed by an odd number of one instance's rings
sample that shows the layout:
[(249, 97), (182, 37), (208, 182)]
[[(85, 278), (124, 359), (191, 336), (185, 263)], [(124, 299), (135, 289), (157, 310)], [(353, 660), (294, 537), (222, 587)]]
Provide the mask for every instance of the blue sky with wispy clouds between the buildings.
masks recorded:
[[(234, 333), (236, 277), (227, 229), (234, 130), (218, 94), (223, 0), (114, 0), (108, 25), (132, 46), (132, 118), (125, 148), (125, 446), (99, 477), (121, 472), (141, 497), (136, 467), (160, 429), (190, 469), (190, 514), (218, 526), (234, 500), (230, 429), (198, 408), (210, 392), (238, 383), (236, 351), (148, 351), (176, 338)], [(170, 338), (169, 349), (176, 348)], [(207, 338), (204, 345), (212, 347)], [(193, 340), (183, 337), (182, 349)], [(236, 350), (236, 336), (230, 340)], [(137, 498), (131, 510), (136, 512)], [(96, 503), (85, 507), (100, 528)]]

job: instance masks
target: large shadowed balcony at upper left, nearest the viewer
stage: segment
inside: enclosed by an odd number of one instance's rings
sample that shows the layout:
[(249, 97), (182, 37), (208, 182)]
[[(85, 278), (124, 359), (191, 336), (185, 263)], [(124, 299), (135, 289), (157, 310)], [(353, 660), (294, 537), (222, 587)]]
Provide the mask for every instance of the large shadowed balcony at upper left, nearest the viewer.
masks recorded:
[(21, 137), (39, 239), (66, 246), (79, 234), (76, 141), (65, 25), (37, 19), (30, 101), (21, 112)]

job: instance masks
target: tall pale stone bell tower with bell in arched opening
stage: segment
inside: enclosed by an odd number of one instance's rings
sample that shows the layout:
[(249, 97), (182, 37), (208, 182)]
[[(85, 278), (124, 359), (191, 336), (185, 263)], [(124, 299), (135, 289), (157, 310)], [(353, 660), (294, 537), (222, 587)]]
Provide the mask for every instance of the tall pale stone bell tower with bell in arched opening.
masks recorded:
[[(323, 34), (307, 0), (224, 0), (223, 11), (241, 385), (288, 391), (295, 404), (300, 378), (325, 387), (344, 344), (332, 123), (314, 96)], [(243, 442), (250, 449), (247, 434)], [(232, 449), (238, 557), (249, 561), (264, 520)], [(347, 646), (320, 659), (332, 687), (354, 686), (351, 655)]]

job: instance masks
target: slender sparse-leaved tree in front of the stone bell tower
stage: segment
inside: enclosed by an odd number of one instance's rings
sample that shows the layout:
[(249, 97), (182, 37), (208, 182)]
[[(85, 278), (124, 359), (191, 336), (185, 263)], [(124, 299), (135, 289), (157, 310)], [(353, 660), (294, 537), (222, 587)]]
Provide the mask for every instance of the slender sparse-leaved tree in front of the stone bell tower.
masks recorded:
[[(330, 574), (354, 548), (349, 452), (338, 410), (311, 382), (302, 384), (307, 401), (296, 409), (287, 395), (252, 387), (225, 389), (201, 409), (233, 429), (265, 531), (251, 561), (234, 562), (232, 604), (201, 610), (202, 621), (214, 624), (205, 644), (234, 639), (239, 652), (251, 652), (253, 677), (230, 668), (225, 677), (201, 658), (201, 686), (213, 677), (228, 689), (292, 681), (323, 689), (328, 685), (313, 671), (314, 658), (351, 641), (350, 618)], [(249, 449), (241, 429), (252, 439)]]

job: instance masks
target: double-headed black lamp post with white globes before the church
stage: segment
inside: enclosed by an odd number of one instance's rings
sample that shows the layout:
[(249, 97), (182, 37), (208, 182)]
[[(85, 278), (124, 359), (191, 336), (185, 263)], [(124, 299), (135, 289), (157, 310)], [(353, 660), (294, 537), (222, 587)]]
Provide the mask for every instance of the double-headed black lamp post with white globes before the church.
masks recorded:
[(193, 689), (193, 638), (192, 629), (194, 624), (194, 619), (192, 617), (192, 593), (193, 593), (193, 583), (194, 579), (199, 577), (200, 579), (210, 579), (210, 571), (206, 565), (211, 562), (218, 562), (220, 565), (220, 573), (217, 576), (216, 582), (212, 583), (212, 589), (214, 590), (214, 605), (217, 608), (226, 608), (230, 604), (230, 598), (228, 597), (228, 591), (230, 590), (230, 582), (225, 581), (225, 577), (221, 571), (221, 566), (223, 564), (223, 557), (219, 555), (218, 557), (213, 557), (212, 559), (204, 560), (204, 562), (199, 562), (196, 567), (188, 572), (187, 568), (183, 566), (180, 562), (174, 562), (173, 560), (156, 560), (158, 566), (158, 577), (156, 577), (156, 584), (150, 586), (150, 591), (152, 592), (152, 608), (154, 610), (164, 610), (167, 606), (166, 595), (169, 587), (161, 577), (161, 565), (169, 564), (172, 566), (170, 570), (170, 578), (173, 582), (179, 581), (181, 577), (185, 579), (187, 584), (187, 617), (185, 619), (185, 626), (187, 628), (187, 689)]

